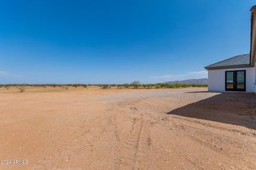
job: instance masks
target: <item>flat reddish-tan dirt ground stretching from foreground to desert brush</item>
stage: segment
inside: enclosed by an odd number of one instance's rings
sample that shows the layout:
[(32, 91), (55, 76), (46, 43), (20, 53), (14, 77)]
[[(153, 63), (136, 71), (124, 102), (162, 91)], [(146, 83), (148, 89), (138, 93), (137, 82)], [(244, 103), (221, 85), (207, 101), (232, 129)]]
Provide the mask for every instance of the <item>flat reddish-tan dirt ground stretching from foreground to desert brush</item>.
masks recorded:
[(0, 88), (0, 169), (256, 169), (256, 95), (206, 91)]

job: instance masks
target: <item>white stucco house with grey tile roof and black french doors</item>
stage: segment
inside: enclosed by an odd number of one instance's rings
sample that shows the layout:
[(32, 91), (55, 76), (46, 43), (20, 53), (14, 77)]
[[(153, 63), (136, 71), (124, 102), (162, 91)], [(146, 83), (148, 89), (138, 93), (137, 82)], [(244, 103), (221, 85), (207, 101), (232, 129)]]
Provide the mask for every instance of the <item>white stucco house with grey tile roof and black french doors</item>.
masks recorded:
[(255, 92), (256, 83), (256, 6), (251, 8), (250, 54), (234, 56), (206, 66), (208, 90)]

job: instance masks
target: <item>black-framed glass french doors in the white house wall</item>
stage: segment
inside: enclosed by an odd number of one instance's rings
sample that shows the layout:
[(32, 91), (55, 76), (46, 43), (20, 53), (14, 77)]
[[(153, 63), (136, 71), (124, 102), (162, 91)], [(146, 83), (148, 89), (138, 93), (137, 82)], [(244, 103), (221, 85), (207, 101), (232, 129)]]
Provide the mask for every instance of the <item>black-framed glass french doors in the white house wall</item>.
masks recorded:
[(225, 73), (225, 90), (226, 91), (245, 91), (246, 87), (245, 70), (226, 71)]

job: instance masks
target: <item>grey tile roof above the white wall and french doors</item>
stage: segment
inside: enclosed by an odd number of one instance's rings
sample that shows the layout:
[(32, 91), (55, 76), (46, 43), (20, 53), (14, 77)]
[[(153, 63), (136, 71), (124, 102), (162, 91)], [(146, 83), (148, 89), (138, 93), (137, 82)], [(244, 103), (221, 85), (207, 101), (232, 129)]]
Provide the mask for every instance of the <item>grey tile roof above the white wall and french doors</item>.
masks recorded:
[(205, 69), (214, 69), (214, 68), (222, 68), (225, 69), (225, 67), (233, 67), (233, 66), (246, 66), (250, 65), (250, 54), (242, 54), (239, 56), (234, 56), (228, 59), (225, 59), (220, 62), (213, 63), (212, 65), (206, 66)]

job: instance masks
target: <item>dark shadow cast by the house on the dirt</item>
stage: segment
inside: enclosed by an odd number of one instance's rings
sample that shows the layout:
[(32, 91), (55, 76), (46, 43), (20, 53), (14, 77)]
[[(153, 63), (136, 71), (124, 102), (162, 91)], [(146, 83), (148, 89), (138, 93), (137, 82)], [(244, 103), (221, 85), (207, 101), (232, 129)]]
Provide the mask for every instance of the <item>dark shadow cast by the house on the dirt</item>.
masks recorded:
[(256, 130), (256, 94), (218, 94), (174, 109), (167, 114), (245, 126)]

